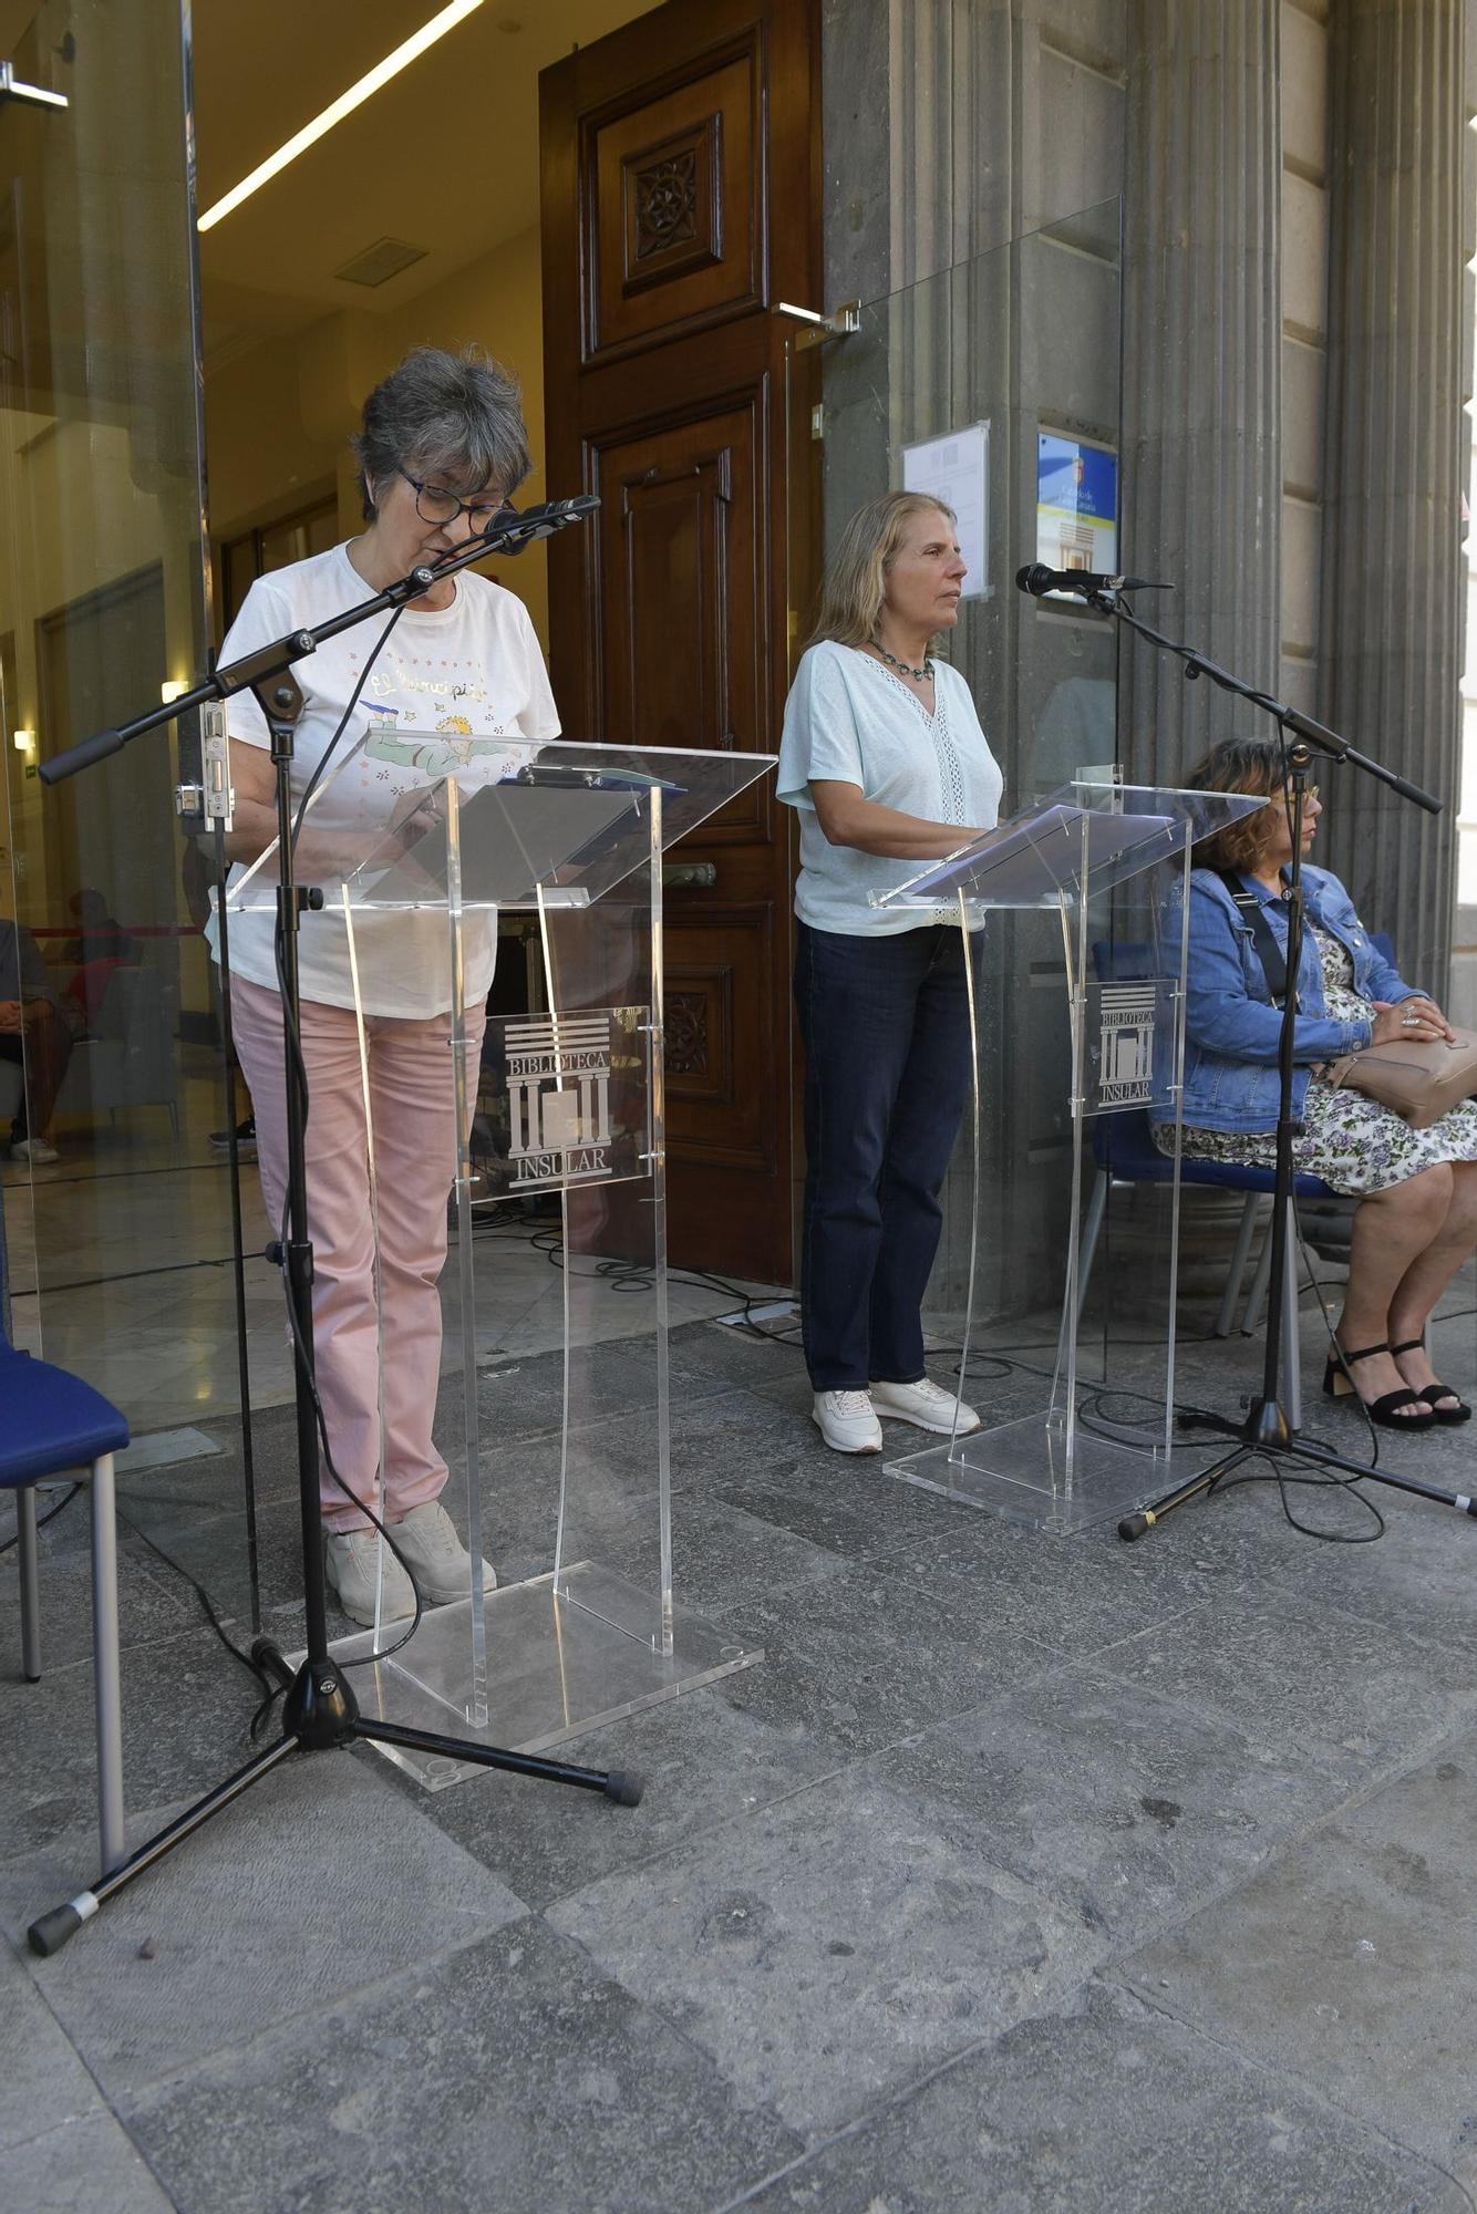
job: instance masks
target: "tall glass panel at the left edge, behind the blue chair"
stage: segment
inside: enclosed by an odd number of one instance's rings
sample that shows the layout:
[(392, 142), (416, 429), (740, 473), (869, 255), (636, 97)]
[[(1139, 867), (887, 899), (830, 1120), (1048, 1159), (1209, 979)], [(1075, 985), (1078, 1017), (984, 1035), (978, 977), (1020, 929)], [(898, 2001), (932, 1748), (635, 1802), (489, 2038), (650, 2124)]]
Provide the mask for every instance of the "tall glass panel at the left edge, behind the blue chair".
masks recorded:
[(13, 1326), (124, 1408), (120, 1510), (244, 1616), (226, 1109), (177, 737), (38, 777), (204, 664), (184, 11), (47, 0), (9, 58), (64, 102), (0, 104), (0, 917), (29, 961), (20, 1127), (0, 1052)]

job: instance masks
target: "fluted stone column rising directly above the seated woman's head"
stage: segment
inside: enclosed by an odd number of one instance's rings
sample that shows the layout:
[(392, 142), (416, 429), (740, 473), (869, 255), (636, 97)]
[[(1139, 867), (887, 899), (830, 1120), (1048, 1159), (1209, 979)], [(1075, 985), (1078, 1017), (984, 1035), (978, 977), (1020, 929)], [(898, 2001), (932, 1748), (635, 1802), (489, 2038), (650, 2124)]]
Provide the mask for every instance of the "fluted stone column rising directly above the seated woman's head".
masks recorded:
[[(1280, 607), (1280, 0), (1134, 0), (1118, 565), (1138, 611), (1264, 689)], [(1132, 777), (1178, 782), (1256, 713), (1140, 642), (1118, 655)]]

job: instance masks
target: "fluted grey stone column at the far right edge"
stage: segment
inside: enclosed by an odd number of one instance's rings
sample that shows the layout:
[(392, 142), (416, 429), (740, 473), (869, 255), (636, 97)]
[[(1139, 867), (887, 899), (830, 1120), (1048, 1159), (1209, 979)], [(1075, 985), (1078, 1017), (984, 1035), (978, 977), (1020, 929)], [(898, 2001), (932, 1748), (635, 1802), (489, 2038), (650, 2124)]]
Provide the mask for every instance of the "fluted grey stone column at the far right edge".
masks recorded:
[(1457, 817), (1470, 325), (1466, 0), (1335, 0), (1320, 706), (1446, 799), (1424, 815), (1351, 768), (1320, 857), (1411, 981), (1446, 990)]

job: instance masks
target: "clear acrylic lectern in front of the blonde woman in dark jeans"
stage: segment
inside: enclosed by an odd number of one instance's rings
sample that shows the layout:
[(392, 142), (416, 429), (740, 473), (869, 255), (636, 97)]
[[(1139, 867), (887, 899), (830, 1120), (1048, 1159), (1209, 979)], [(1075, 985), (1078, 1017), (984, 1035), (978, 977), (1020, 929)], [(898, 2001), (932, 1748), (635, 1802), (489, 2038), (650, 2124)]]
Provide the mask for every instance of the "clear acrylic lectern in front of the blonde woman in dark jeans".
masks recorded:
[[(965, 934), (1005, 908), (1061, 912), (1070, 1047), (1070, 1193), (1061, 1251), (1023, 1258), (1061, 1284), (1047, 1328), (992, 1375), (974, 1315), (988, 1065), (999, 1010), (972, 983), (974, 1202), (959, 1393), (981, 1428), (890, 1461), (888, 1472), (1034, 1528), (1116, 1519), (1165, 1488), (1174, 1444), (1180, 1085), (1191, 846), (1267, 801), (1081, 777), (934, 861), (879, 906), (928, 908)], [(970, 981), (974, 965), (965, 963)], [(1114, 1180), (1112, 1118), (1154, 1176)], [(1154, 1140), (1151, 1125), (1160, 1131)], [(1085, 1198), (1085, 1193), (1089, 1193)], [(1105, 1222), (1107, 1207), (1116, 1215)], [(1056, 1320), (1058, 1317), (1058, 1320)], [(994, 1335), (1001, 1335), (999, 1331)], [(1032, 1364), (1041, 1366), (1032, 1375)], [(972, 1382), (974, 1364), (979, 1382)]]

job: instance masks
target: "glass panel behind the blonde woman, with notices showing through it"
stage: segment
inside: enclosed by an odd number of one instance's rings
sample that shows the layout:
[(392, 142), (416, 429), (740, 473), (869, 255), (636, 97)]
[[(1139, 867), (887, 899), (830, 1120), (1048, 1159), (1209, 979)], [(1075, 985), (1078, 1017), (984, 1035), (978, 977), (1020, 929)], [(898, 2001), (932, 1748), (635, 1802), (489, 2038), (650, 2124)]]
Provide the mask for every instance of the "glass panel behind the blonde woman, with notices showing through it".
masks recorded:
[[(965, 675), (1005, 775), (1001, 813), (1112, 764), (1118, 635), (1065, 600), (1016, 591), (1016, 569), (1118, 567), (1120, 206), (1105, 201), (861, 308), (859, 330), (791, 343), (791, 660), (848, 516), (890, 487), (934, 489), (970, 560), (941, 651)], [(1047, 441), (1043, 445), (1043, 441)], [(1067, 487), (1063, 492), (1063, 487)], [(1087, 558), (1092, 554), (1092, 558)], [(1132, 549), (1120, 562), (1132, 565)], [(999, 914), (983, 943), (992, 1010), (981, 1129), (981, 1315), (1021, 1359), (1050, 1357), (1072, 1191), (1070, 1061), (1052, 992), (1065, 985), (1054, 912)], [(948, 1379), (970, 1262), (972, 1136), (946, 1182), (926, 1322)]]

